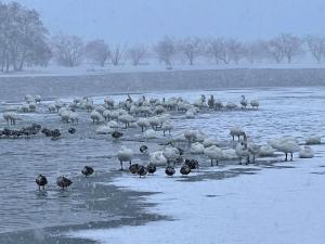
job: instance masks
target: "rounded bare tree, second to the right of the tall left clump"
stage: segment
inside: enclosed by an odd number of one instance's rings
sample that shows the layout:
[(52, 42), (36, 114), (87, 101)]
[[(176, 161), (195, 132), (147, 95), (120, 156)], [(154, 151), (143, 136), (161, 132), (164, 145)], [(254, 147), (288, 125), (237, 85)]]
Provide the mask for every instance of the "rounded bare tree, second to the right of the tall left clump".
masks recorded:
[(86, 55), (95, 63), (104, 67), (107, 59), (110, 55), (108, 44), (104, 40), (93, 40), (86, 46)]

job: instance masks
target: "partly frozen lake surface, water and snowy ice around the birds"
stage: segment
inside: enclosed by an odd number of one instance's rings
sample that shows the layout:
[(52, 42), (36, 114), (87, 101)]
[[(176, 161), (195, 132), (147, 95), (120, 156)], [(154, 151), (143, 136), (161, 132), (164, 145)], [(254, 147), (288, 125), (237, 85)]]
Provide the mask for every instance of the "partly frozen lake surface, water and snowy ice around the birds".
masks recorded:
[[(56, 99), (40, 94), (44, 98), (43, 104)], [(146, 97), (181, 95), (193, 102), (202, 94), (214, 94), (224, 102), (236, 103), (245, 94), (248, 100), (258, 99), (261, 107), (258, 111), (202, 113), (195, 119), (176, 116), (172, 136), (184, 129), (198, 128), (220, 140), (231, 140), (229, 129), (242, 126), (259, 144), (281, 136), (294, 136), (301, 143), (311, 133), (324, 137), (323, 87), (150, 92)], [(70, 97), (65, 94), (64, 98), (72, 101), (75, 95), (78, 93), (73, 91)], [(133, 95), (138, 97), (140, 94)], [(126, 95), (113, 98), (122, 100)], [(104, 97), (93, 99), (95, 103), (102, 103)], [(0, 113), (9, 105), (18, 105), (22, 100), (15, 95), (2, 99)], [(23, 114), (17, 127), (32, 121), (50, 128), (58, 127), (64, 131), (62, 139), (53, 141), (37, 136), (0, 140), (0, 185), (3, 189), (0, 191), (0, 240), (5, 233), (41, 230), (44, 227), (69, 227), (63, 228), (60, 233), (75, 230), (76, 226), (89, 229), (92, 228), (90, 222), (109, 222), (126, 217), (136, 219), (147, 211), (157, 215), (157, 219), (158, 216), (167, 216), (176, 221), (69, 234), (104, 243), (173, 243), (173, 240), (178, 243), (280, 243), (283, 240), (286, 242), (282, 243), (315, 243), (308, 242), (308, 237), (299, 239), (303, 233), (303, 236), (313, 236), (315, 241), (324, 239), (325, 231), (321, 226), (325, 215), (321, 204), (324, 197), (317, 194), (325, 183), (321, 174), (322, 166), (325, 166), (323, 145), (314, 147), (316, 157), (313, 159), (299, 159), (297, 154), (292, 164), (276, 164), (294, 168), (270, 169), (261, 164), (248, 166), (247, 169), (245, 166), (224, 165), (220, 168), (204, 167), (198, 174), (244, 168), (244, 171), (251, 169), (256, 175), (238, 174), (238, 177), (222, 180), (210, 177), (205, 181), (182, 182), (179, 175), (170, 179), (159, 170), (157, 176), (140, 180), (117, 170), (116, 152), (121, 144), (138, 152), (142, 142), (135, 139), (113, 142), (108, 136), (95, 134), (96, 126), (92, 125), (89, 115), (78, 113), (81, 118), (74, 136), (67, 133), (70, 125), (62, 124), (56, 114), (49, 114), (42, 105), (37, 113)], [(3, 128), (6, 125), (0, 116), (0, 128)], [(134, 131), (135, 138), (141, 138), (140, 129)], [(162, 138), (162, 132), (159, 138)], [(155, 141), (146, 143), (152, 150), (160, 146)], [(141, 155), (135, 155), (135, 158), (144, 160)], [(203, 160), (208, 163), (208, 158)], [(94, 177), (84, 179), (80, 176), (84, 165), (96, 169)], [(37, 191), (35, 178), (38, 174), (48, 176), (50, 185), (47, 193)], [(66, 192), (58, 191), (54, 185), (60, 175), (66, 175), (74, 181)], [(161, 194), (152, 195), (151, 192)], [(132, 239), (125, 239), (126, 232)], [(145, 232), (151, 234), (147, 236)], [(297, 239), (288, 240), (295, 233)]]

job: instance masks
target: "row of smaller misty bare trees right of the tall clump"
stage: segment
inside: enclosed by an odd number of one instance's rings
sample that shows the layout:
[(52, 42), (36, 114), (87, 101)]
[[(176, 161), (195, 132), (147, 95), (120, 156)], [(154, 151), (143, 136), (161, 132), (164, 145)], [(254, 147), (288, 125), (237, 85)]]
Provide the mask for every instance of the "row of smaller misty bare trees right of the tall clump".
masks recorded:
[(93, 40), (86, 44), (80, 38), (63, 36), (53, 38), (53, 53), (60, 64), (76, 66), (82, 57), (104, 66), (106, 63), (119, 65), (121, 61), (129, 60), (136, 66), (148, 56), (156, 56), (167, 67), (177, 59), (186, 60), (194, 65), (198, 59), (214, 60), (216, 64), (238, 64), (242, 60), (249, 63), (272, 60), (275, 63), (291, 63), (295, 57), (303, 56), (310, 52), (320, 63), (325, 57), (325, 38), (307, 36), (303, 38), (290, 34), (281, 34), (270, 40), (242, 42), (232, 38), (187, 37), (176, 40), (164, 37), (156, 44), (128, 44), (109, 46), (104, 40)]

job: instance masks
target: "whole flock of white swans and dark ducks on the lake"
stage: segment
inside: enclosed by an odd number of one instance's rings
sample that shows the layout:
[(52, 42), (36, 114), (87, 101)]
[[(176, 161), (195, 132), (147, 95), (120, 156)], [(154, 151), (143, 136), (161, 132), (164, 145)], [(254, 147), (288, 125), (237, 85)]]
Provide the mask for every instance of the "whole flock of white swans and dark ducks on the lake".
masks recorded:
[[(21, 114), (35, 113), (40, 107), (47, 107), (43, 113), (57, 114), (57, 118), (64, 124), (69, 124), (68, 133), (78, 132), (80, 115), (87, 114), (90, 126), (95, 126), (98, 134), (107, 134), (113, 143), (122, 143), (123, 138), (134, 133), (141, 133), (145, 142), (155, 142), (154, 139), (162, 138), (160, 149), (152, 150), (145, 143), (139, 146), (141, 158), (146, 155), (146, 160), (139, 163), (136, 154), (132, 149), (121, 145), (116, 157), (123, 169), (123, 163), (128, 163), (129, 171), (144, 177), (147, 174), (155, 174), (156, 167), (165, 167), (167, 176), (173, 176), (176, 168), (180, 167), (181, 175), (188, 175), (192, 170), (198, 169), (208, 159), (210, 166), (218, 166), (222, 162), (238, 162), (248, 165), (256, 163), (256, 157), (273, 157), (276, 152), (285, 155), (285, 160), (292, 160), (294, 153), (299, 152), (299, 157), (311, 158), (314, 156), (310, 145), (320, 144), (321, 137), (312, 134), (306, 139), (306, 145), (301, 147), (296, 138), (282, 137), (270, 140), (266, 144), (255, 143), (242, 127), (230, 128), (229, 134), (232, 139), (220, 141), (204, 133), (199, 129), (187, 129), (181, 134), (171, 136), (174, 129), (173, 118), (193, 119), (199, 113), (214, 113), (219, 111), (257, 111), (260, 103), (258, 100), (248, 101), (245, 95), (238, 103), (222, 102), (210, 95), (202, 95), (194, 103), (183, 98), (157, 99), (142, 95), (138, 100), (128, 94), (125, 101), (115, 101), (113, 98), (105, 98), (103, 103), (94, 104), (92, 98), (76, 98), (72, 102), (56, 100), (50, 104), (42, 104), (40, 95), (26, 95), (25, 103), (18, 107), (8, 106), (3, 113), (6, 128), (0, 129), (0, 138), (26, 138), (36, 136), (39, 132), (53, 140), (58, 140), (64, 131), (58, 128), (49, 129), (38, 124), (28, 127), (17, 128), (23, 118)], [(20, 123), (17, 123), (20, 121)], [(91, 125), (92, 124), (92, 125)], [(289, 157), (288, 157), (289, 156)], [(140, 160), (140, 158), (138, 158)], [(86, 177), (92, 175), (94, 169), (84, 166), (81, 171)], [(39, 188), (44, 188), (48, 180), (44, 175), (36, 179)], [(56, 184), (68, 188), (73, 181), (61, 176)]]

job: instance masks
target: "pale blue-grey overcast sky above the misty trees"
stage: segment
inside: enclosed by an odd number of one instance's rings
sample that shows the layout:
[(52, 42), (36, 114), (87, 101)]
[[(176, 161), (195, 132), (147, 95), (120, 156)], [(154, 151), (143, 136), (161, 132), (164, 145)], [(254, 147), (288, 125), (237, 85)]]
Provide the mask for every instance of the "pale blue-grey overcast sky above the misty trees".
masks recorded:
[[(5, 1), (8, 2), (8, 1)], [(18, 0), (51, 33), (110, 42), (154, 42), (164, 35), (244, 40), (278, 33), (324, 34), (325, 0)]]

